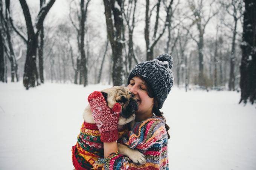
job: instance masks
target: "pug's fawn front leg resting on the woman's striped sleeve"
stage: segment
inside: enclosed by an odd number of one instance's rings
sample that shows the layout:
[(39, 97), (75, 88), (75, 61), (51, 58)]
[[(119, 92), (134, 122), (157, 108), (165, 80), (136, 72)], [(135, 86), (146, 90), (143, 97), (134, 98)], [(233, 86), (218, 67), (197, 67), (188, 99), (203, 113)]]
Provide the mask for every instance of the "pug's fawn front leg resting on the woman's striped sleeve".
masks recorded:
[(136, 164), (145, 164), (146, 157), (143, 153), (139, 152), (137, 149), (131, 149), (130, 147), (117, 143), (119, 153), (128, 156)]

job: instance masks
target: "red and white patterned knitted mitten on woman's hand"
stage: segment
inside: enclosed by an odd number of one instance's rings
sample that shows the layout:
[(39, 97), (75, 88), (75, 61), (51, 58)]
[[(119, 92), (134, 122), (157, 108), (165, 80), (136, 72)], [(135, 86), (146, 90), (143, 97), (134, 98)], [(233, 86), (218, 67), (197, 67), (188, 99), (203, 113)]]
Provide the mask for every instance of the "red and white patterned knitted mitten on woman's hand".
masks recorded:
[(111, 142), (117, 140), (117, 125), (122, 106), (116, 103), (111, 110), (102, 93), (98, 91), (94, 91), (88, 96), (88, 102), (93, 120), (101, 133), (101, 141)]

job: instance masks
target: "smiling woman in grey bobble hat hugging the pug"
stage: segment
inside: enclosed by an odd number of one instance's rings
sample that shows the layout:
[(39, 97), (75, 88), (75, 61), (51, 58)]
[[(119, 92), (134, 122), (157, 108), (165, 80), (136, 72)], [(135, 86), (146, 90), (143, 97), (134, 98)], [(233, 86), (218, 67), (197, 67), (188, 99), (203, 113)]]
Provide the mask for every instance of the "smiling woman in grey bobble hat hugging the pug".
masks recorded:
[[(94, 168), (103, 166), (104, 169), (169, 169), (167, 156), (169, 126), (166, 125), (163, 113), (159, 109), (162, 108), (171, 91), (172, 65), (172, 57), (169, 54), (162, 54), (154, 60), (136, 65), (127, 79), (127, 87), (138, 100), (139, 110), (136, 111), (135, 125), (120, 142), (142, 152), (146, 157), (146, 163), (143, 165), (136, 164), (118, 153), (116, 124), (120, 105), (116, 105), (112, 109), (113, 112), (106, 111), (106, 114), (102, 114), (102, 110), (109, 109), (101, 105), (102, 101), (99, 98), (102, 96), (92, 93), (88, 97), (99, 131), (108, 139), (102, 141), (104, 159), (100, 159)], [(102, 127), (102, 121), (107, 119), (111, 123)]]

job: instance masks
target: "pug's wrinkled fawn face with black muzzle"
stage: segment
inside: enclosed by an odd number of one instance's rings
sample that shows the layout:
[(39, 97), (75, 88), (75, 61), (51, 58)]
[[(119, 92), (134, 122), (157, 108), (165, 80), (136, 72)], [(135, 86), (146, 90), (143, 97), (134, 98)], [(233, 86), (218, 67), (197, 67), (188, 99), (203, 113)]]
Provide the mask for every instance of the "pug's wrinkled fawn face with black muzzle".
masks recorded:
[(120, 116), (125, 119), (131, 117), (139, 108), (137, 99), (126, 87), (114, 86), (109, 89), (102, 90), (101, 93), (107, 101), (108, 107), (113, 108), (116, 103), (122, 105), (122, 112)]

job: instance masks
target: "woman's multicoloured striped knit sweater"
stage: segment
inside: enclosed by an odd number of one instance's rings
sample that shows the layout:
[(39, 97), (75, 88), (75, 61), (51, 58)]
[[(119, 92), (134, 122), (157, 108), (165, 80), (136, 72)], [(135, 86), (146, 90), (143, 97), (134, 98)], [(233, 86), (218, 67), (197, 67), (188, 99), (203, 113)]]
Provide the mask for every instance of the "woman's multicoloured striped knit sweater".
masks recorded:
[(130, 148), (136, 148), (146, 156), (146, 163), (138, 165), (126, 156), (119, 154), (112, 158), (101, 158), (94, 168), (103, 166), (105, 170), (169, 170), (167, 143), (168, 135), (165, 120), (152, 116), (138, 124), (133, 131), (129, 131), (122, 143)]

